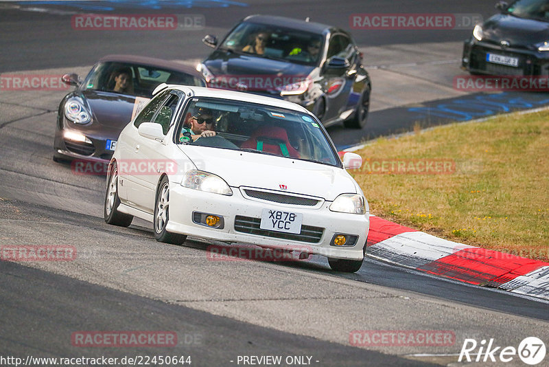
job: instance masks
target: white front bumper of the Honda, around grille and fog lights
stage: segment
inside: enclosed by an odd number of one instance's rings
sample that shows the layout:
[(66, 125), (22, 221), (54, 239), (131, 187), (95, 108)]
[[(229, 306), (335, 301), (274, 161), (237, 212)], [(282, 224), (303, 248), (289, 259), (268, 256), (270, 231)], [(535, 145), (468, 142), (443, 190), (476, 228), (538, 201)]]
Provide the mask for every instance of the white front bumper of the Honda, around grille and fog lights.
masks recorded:
[[(263, 247), (282, 249), (299, 249), (300, 252), (319, 254), (330, 258), (362, 260), (364, 246), (369, 231), (369, 214), (347, 214), (331, 212), (329, 201), (323, 202), (320, 207), (303, 205), (279, 204), (272, 201), (248, 199), (239, 188), (231, 188), (232, 196), (211, 194), (198, 190), (191, 190), (170, 182), (170, 221), (168, 232), (189, 234), (215, 241), (249, 243)], [(269, 235), (248, 234), (235, 229), (237, 216), (251, 219), (260, 219), (261, 211), (265, 208), (284, 210), (303, 214), (303, 227), (320, 227), (323, 233), (318, 242), (296, 241), (295, 239), (275, 238)], [(224, 222), (222, 229), (215, 229), (194, 223), (193, 212), (201, 212), (221, 216)], [(349, 234), (358, 236), (353, 246), (331, 245), (334, 234)]]

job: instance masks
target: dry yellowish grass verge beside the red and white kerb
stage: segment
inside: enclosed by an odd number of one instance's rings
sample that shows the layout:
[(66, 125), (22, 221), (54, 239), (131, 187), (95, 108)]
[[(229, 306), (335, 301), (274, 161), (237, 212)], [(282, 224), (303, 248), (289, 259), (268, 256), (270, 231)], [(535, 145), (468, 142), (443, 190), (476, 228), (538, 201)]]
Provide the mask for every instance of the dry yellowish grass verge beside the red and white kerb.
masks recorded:
[(549, 111), (380, 139), (355, 153), (362, 167), (349, 173), (372, 214), (549, 260)]

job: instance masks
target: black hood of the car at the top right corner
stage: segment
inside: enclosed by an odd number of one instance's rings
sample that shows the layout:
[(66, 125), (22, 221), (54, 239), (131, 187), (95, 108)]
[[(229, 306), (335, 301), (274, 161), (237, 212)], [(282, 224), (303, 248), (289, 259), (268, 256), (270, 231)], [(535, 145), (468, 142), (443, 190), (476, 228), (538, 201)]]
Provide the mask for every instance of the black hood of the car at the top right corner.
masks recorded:
[(513, 46), (528, 46), (549, 40), (549, 23), (498, 14), (482, 26), (483, 38), (495, 43), (509, 41)]

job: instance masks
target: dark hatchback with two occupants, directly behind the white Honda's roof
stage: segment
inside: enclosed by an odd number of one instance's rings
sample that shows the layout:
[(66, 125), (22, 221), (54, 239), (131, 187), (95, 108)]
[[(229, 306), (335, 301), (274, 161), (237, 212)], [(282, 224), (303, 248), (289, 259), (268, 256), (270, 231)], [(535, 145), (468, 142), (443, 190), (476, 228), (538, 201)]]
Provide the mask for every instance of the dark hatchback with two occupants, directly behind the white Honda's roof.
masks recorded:
[(362, 128), (371, 80), (351, 35), (281, 16), (248, 16), (214, 47), (198, 71), (209, 87), (248, 91), (301, 104), (325, 126)]

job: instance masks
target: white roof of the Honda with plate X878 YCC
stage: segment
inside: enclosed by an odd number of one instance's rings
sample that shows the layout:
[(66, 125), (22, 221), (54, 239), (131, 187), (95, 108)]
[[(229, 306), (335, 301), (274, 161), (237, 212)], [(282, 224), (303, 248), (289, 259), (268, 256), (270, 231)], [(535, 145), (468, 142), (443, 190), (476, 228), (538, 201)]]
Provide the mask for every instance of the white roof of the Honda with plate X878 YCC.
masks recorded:
[[(286, 100), (280, 100), (278, 98), (271, 98), (266, 96), (259, 96), (253, 93), (243, 93), (240, 91), (228, 91), (226, 89), (215, 89), (206, 87), (194, 87), (189, 85), (167, 85), (168, 89), (176, 89), (187, 93), (189, 89), (194, 92), (196, 97), (211, 97), (211, 98), (224, 98), (226, 100), (242, 100), (244, 102), (266, 104), (268, 106), (281, 107), (283, 109), (292, 109), (294, 111), (309, 113), (305, 107), (300, 106)], [(161, 89), (165, 90), (165, 89)], [(159, 90), (160, 91), (160, 90)]]

